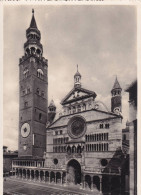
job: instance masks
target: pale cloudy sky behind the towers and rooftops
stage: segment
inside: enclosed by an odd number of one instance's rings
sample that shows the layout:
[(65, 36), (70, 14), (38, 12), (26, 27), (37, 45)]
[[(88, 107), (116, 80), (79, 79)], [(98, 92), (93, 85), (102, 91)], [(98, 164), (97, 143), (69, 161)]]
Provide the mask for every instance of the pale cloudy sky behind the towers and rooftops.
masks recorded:
[(79, 66), (82, 87), (110, 110), (115, 77), (122, 87), (123, 127), (128, 119), (127, 86), (137, 74), (135, 6), (5, 5), (3, 15), (3, 144), (18, 149), (19, 58), (24, 55), (32, 8), (48, 59), (48, 98), (57, 112), (74, 86)]

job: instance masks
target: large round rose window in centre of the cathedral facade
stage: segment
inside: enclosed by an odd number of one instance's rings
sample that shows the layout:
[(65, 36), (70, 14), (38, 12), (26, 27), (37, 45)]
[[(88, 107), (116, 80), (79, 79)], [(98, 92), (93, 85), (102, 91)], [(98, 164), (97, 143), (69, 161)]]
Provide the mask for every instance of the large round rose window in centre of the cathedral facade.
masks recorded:
[(72, 138), (83, 136), (85, 131), (86, 123), (82, 117), (76, 116), (70, 119), (68, 123), (68, 133)]

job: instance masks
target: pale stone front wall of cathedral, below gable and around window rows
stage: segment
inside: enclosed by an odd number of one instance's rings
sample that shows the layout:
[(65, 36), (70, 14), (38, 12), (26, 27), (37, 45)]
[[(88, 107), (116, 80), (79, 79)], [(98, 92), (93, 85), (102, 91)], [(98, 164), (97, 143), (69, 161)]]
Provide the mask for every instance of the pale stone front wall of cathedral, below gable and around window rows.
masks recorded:
[[(94, 113), (94, 115), (96, 116), (97, 112)], [(100, 115), (100, 113), (98, 112), (98, 115)], [(87, 119), (92, 119), (93, 117), (90, 115), (90, 112), (85, 112), (83, 113), (83, 117), (87, 116)], [(71, 119), (72, 116), (68, 116), (69, 120)], [(100, 116), (98, 116), (100, 117)], [(64, 127), (55, 127), (55, 128), (51, 128), (49, 130), (47, 130), (47, 140), (46, 140), (46, 161), (45, 161), (45, 166), (52, 166), (54, 167), (54, 159), (58, 159), (58, 164), (57, 166), (61, 167), (65, 167), (67, 165), (67, 163), (69, 162), (69, 160), (71, 159), (76, 159), (81, 166), (85, 166), (85, 168), (100, 168), (101, 167), (101, 163), (100, 160), (103, 158), (106, 158), (107, 160), (111, 159), (115, 153), (115, 151), (118, 148), (122, 147), (122, 128), (121, 128), (121, 119), (120, 118), (115, 118), (115, 119), (108, 119), (108, 120), (104, 120), (103, 118), (103, 113), (101, 114), (101, 121), (98, 122), (94, 122), (94, 121), (86, 121), (86, 132), (85, 134), (81, 137), (78, 138), (78, 142), (77, 139), (75, 139), (75, 143), (62, 143), (60, 145), (56, 145), (54, 144), (54, 139), (59, 139), (59, 138), (69, 138), (69, 142), (73, 141), (73, 138), (71, 138), (68, 134), (68, 127), (64, 126)], [(97, 116), (96, 116), (97, 118)], [(100, 124), (103, 124), (105, 127), (105, 124), (109, 124), (109, 128), (102, 128), (100, 129)], [(60, 124), (60, 123), (59, 123)], [(62, 134), (60, 134), (60, 131), (62, 131)], [(57, 132), (57, 135), (56, 135)], [(106, 134), (108, 133), (108, 140), (103, 140), (103, 141), (86, 141), (86, 135), (95, 135), (95, 134)], [(55, 146), (67, 146), (67, 145), (81, 145), (81, 142), (84, 142), (84, 151), (82, 152), (82, 156), (77, 156), (76, 154), (70, 155), (68, 156), (67, 153), (64, 152), (53, 152), (53, 147)], [(109, 148), (108, 151), (91, 151), (88, 152), (86, 151), (86, 145), (90, 145), (90, 144), (104, 144), (104, 143), (108, 143)]]

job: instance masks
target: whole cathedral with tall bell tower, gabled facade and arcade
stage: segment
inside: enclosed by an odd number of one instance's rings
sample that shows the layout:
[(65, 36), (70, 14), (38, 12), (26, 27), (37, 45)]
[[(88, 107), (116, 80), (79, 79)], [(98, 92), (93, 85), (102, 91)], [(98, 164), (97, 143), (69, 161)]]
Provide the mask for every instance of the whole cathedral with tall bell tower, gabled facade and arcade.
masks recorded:
[(63, 112), (57, 118), (54, 101), (48, 106), (48, 60), (43, 57), (34, 10), (26, 38), (19, 60), (19, 153), (12, 163), (15, 177), (101, 193), (120, 188), (122, 88), (117, 77), (109, 111), (96, 100), (96, 92), (83, 88), (77, 67), (72, 90), (62, 99)]

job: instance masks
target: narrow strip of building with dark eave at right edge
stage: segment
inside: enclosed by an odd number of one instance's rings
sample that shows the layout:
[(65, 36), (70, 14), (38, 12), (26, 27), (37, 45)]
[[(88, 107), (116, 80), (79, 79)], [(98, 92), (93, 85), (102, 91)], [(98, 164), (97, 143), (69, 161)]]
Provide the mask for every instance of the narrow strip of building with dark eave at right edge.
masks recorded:
[(137, 194), (137, 80), (126, 89), (129, 93), (130, 194)]

